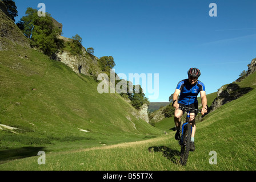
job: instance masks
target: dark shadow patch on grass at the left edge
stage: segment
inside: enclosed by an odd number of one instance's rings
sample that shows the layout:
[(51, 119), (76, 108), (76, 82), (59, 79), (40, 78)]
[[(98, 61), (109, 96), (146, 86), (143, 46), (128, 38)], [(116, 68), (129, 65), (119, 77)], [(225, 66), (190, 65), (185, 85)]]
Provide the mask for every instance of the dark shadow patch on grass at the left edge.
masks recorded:
[(45, 147), (22, 147), (9, 150), (0, 150), (0, 164), (9, 160), (37, 156), (39, 151), (46, 151)]

